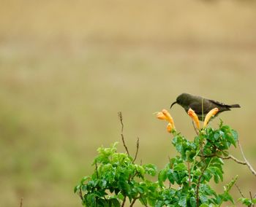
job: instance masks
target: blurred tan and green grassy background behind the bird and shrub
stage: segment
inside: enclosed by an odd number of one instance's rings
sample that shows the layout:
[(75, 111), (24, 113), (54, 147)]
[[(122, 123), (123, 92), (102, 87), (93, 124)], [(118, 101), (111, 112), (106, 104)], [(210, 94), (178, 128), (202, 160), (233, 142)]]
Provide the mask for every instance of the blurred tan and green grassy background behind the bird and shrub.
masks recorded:
[[(256, 168), (255, 1), (0, 4), (0, 206), (81, 206), (73, 187), (93, 172), (97, 148), (119, 141), (124, 152), (119, 111), (129, 151), (139, 137), (138, 160), (162, 168), (176, 152), (153, 113), (184, 92), (241, 104), (219, 117)], [(171, 114), (192, 140), (184, 109)], [(254, 194), (246, 166), (226, 163), (224, 183), (238, 174), (244, 195)]]

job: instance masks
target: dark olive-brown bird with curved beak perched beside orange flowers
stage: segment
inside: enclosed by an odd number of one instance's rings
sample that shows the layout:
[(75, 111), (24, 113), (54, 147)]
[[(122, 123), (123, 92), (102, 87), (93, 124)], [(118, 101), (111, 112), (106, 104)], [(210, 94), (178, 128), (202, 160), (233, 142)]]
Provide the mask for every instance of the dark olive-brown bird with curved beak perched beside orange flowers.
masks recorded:
[(178, 95), (176, 101), (171, 104), (170, 109), (176, 103), (182, 106), (186, 112), (189, 110), (189, 108), (193, 109), (200, 121), (203, 121), (206, 114), (214, 108), (219, 109), (218, 114), (220, 112), (230, 111), (231, 108), (241, 108), (239, 104), (229, 105), (208, 98), (203, 98), (199, 95), (191, 95), (189, 93), (181, 93), (181, 95)]

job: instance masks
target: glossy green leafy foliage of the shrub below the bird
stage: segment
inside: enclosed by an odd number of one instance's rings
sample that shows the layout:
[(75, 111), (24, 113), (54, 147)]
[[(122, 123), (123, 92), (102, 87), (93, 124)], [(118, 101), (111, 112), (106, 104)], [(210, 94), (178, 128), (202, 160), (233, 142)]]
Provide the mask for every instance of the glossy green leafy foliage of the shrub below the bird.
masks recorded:
[[(117, 143), (110, 148), (99, 147), (95, 157), (94, 173), (85, 176), (75, 187), (83, 206), (124, 206), (129, 200), (133, 206), (139, 201), (143, 206), (221, 206), (234, 203), (230, 189), (236, 178), (217, 193), (210, 186), (223, 181), (223, 157), (228, 149), (236, 147), (238, 134), (227, 125), (199, 131), (193, 141), (172, 130), (172, 144), (179, 155), (170, 158), (165, 168), (157, 171), (153, 164), (138, 165), (127, 153), (116, 152)], [(157, 176), (151, 181), (148, 176)], [(254, 200), (241, 199), (246, 206)]]

